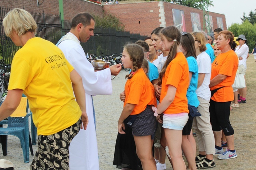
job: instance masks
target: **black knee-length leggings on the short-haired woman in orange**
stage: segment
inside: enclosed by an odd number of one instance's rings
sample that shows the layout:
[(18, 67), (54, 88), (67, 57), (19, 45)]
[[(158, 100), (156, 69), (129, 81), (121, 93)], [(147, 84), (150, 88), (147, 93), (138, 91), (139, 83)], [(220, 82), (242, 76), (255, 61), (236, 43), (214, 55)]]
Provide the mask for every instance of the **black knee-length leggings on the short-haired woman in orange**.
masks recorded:
[(234, 134), (234, 129), (229, 122), (231, 102), (215, 102), (210, 100), (210, 119), (213, 131), (223, 130), (225, 136)]

